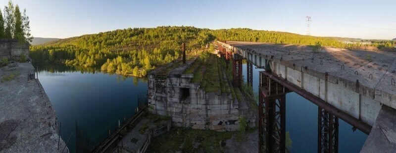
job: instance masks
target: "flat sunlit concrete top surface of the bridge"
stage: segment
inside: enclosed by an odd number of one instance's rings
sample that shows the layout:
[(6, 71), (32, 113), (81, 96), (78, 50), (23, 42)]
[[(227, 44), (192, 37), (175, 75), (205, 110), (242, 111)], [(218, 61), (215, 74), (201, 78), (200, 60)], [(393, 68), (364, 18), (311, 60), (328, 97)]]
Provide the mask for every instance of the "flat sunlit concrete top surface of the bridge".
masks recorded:
[(338, 84), (342, 80), (347, 89), (396, 108), (395, 53), (338, 48), (323, 48), (315, 53), (311, 47), (301, 45), (237, 41), (227, 44), (322, 80), (327, 72), (329, 82)]

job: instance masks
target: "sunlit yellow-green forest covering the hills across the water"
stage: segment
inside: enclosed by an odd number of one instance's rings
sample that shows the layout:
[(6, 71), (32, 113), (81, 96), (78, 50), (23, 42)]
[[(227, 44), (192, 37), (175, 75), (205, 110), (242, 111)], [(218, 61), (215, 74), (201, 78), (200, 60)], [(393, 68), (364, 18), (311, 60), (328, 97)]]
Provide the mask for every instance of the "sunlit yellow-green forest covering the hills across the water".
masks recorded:
[(134, 28), (100, 32), (31, 46), (36, 62), (100, 67), (107, 73), (143, 77), (155, 68), (180, 58), (181, 43), (187, 50), (199, 50), (212, 40), (255, 41), (314, 45), (338, 48), (371, 46), (392, 48), (396, 41), (371, 44), (342, 43), (334, 38), (299, 35), (289, 32), (250, 29), (209, 30), (194, 27)]

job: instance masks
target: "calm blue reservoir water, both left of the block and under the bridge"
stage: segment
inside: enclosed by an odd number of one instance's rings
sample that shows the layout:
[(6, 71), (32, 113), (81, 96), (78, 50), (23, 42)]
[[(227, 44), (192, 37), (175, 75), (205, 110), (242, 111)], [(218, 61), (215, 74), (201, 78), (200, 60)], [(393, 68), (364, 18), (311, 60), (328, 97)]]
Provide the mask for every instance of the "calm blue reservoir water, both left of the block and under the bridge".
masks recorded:
[[(258, 90), (258, 72), (253, 68), (253, 89)], [(246, 75), (246, 64), (243, 66)], [(246, 79), (246, 78), (245, 78)], [(130, 118), (138, 105), (138, 97), (145, 97), (147, 81), (119, 75), (109, 75), (95, 69), (76, 70), (68, 66), (39, 65), (39, 80), (55, 108), (58, 122), (62, 122), (61, 136), (66, 142), (72, 131), (68, 147), (75, 151), (76, 123), (85, 127), (93, 145), (108, 136)], [(141, 96), (139, 96), (141, 95)], [(292, 153), (317, 152), (318, 107), (298, 94), (286, 95), (286, 131), (290, 133)], [(143, 100), (141, 100), (143, 101)], [(339, 152), (358, 153), (367, 135), (339, 120)]]

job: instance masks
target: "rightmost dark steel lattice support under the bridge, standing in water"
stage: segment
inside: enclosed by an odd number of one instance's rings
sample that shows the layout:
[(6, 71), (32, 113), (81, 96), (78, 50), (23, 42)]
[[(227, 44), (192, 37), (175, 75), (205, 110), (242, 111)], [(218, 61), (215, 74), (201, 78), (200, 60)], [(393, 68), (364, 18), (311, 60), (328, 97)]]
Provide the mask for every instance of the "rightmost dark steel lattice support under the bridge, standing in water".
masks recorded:
[(338, 118), (318, 107), (318, 153), (338, 153)]

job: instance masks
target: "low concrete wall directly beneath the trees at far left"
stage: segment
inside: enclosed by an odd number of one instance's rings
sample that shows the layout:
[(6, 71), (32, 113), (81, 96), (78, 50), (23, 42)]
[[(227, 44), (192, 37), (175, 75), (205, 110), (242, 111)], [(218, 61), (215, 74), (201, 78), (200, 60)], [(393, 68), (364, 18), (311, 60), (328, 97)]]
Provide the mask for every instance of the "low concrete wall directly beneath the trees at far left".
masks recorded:
[(0, 39), (0, 59), (19, 61), (21, 55), (29, 56), (29, 43), (13, 39)]

